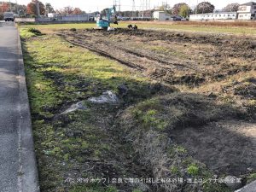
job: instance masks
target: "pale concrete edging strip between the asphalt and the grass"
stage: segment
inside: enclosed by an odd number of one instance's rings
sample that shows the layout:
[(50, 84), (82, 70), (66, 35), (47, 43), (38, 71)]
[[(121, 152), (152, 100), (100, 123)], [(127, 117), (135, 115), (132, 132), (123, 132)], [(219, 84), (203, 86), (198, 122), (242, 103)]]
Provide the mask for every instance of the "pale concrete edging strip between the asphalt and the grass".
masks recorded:
[(39, 192), (38, 167), (32, 134), (32, 120), (26, 89), (26, 75), (20, 32), (18, 28), (17, 34), (20, 85), (20, 124), (18, 128), (20, 163), (20, 170), (18, 172), (19, 192)]

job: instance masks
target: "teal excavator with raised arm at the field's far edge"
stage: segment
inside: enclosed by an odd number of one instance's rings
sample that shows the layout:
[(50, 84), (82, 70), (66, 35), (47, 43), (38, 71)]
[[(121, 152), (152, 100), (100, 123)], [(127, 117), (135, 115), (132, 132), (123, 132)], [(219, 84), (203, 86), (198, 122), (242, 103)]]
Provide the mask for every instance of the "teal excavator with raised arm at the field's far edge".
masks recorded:
[(102, 15), (98, 15), (96, 19), (96, 26), (97, 29), (108, 29), (110, 27), (110, 20), (111, 16), (113, 15), (113, 23), (118, 25), (117, 15), (116, 15), (116, 9), (113, 5), (113, 8), (107, 9), (107, 18), (102, 19)]

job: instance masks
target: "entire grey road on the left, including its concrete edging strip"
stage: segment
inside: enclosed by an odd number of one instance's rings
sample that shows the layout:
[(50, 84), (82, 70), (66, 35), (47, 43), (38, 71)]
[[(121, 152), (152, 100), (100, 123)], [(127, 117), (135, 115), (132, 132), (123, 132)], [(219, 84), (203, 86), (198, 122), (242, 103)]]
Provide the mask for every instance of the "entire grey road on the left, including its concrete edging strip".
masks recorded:
[(38, 191), (18, 32), (0, 22), (0, 192)]

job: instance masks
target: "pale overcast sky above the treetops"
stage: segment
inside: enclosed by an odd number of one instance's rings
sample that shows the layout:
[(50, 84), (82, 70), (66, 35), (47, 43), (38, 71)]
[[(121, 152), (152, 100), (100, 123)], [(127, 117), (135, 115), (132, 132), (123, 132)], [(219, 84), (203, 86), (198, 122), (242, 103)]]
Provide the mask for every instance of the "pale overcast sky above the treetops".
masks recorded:
[[(65, 6), (79, 7), (86, 12), (92, 12), (96, 10), (102, 10), (104, 8), (111, 7), (113, 5), (113, 0), (41, 0), (43, 3), (51, 3), (55, 9), (60, 9)], [(143, 0), (135, 0), (137, 9), (140, 9), (141, 2)], [(145, 0), (144, 0), (145, 1)], [(222, 9), (228, 3), (247, 3), (252, 0), (207, 0), (208, 2), (215, 5), (216, 9)], [(15, 0), (11, 0), (15, 3)], [(17, 0), (20, 4), (27, 4), (31, 0)], [(131, 10), (132, 9), (132, 0), (120, 0), (121, 10)], [(149, 0), (148, 0), (149, 2)], [(195, 7), (197, 3), (201, 3), (201, 0), (151, 0), (150, 7), (159, 6), (162, 2), (167, 2), (171, 6), (175, 3), (188, 3), (192, 8)]]

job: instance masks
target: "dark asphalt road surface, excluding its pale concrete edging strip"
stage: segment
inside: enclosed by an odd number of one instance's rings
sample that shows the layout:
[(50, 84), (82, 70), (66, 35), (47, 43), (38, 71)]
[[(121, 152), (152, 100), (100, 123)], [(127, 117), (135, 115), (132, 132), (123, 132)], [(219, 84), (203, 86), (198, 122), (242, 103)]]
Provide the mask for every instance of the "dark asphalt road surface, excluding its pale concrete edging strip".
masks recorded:
[(18, 35), (0, 23), (0, 191), (18, 191)]

